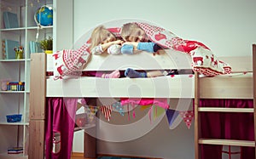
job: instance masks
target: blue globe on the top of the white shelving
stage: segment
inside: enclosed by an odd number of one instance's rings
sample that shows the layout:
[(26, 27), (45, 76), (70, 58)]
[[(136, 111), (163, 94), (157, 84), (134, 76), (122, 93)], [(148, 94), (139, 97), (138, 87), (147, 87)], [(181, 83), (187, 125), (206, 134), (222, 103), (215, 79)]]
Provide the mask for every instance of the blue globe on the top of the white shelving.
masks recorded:
[(48, 6), (42, 6), (34, 14), (34, 19), (38, 25), (52, 26), (53, 10)]

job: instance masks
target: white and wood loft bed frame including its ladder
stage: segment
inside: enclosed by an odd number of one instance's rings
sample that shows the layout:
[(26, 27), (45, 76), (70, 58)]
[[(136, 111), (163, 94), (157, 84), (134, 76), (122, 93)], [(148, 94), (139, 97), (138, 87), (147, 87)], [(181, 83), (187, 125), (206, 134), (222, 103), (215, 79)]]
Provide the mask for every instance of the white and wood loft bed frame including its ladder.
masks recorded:
[[(153, 62), (143, 64), (145, 56), (134, 54), (125, 57), (125, 61), (121, 56), (92, 56), (91, 61), (84, 71), (94, 70), (125, 70), (125, 66), (129, 67), (136, 64), (135, 68), (143, 68), (145, 70), (163, 70), (163, 69), (191, 69), (188, 54), (181, 54), (175, 51), (165, 50), (165, 53), (153, 56), (148, 54), (148, 60)], [(128, 58), (128, 59), (127, 59)], [(136, 60), (135, 60), (136, 59)], [(248, 72), (247, 76), (229, 77), (227, 75), (221, 77), (200, 77), (195, 72), (194, 77), (190, 78), (172, 78), (172, 77), (155, 77), (155, 78), (97, 78), (97, 77), (79, 77), (77, 79), (54, 80), (52, 77), (46, 77), (46, 71), (53, 71), (53, 62), (49, 55), (32, 54), (31, 61), (31, 81), (30, 81), (30, 130), (29, 130), (29, 158), (44, 158), (44, 121), (45, 121), (45, 99), (47, 97), (137, 97), (125, 92), (125, 88), (135, 84), (141, 89), (141, 96), (144, 98), (189, 98), (195, 99), (195, 159), (200, 158), (199, 145), (241, 145), (253, 146), (254, 141), (239, 140), (220, 140), (220, 139), (201, 139), (199, 128), (199, 116), (201, 111), (218, 111), (218, 112), (250, 112), (254, 113), (254, 127), (256, 128), (256, 45), (253, 44), (253, 58), (247, 57), (221, 57), (232, 66), (234, 73)], [(135, 60), (135, 61), (134, 61)], [(181, 62), (182, 61), (182, 62)], [(126, 63), (125, 63), (126, 62)], [(114, 65), (113, 65), (114, 63)], [(131, 65), (129, 65), (131, 64)], [(125, 66), (124, 66), (125, 65)], [(134, 66), (134, 65), (133, 65)], [(253, 75), (252, 75), (253, 72)], [(160, 89), (166, 89), (168, 84), (171, 91), (163, 91), (164, 93), (155, 94), (155, 86)], [(73, 88), (74, 83), (79, 83), (80, 91)], [(86, 84), (84, 84), (86, 83)], [(113, 84), (115, 87), (112, 87)], [(233, 83), (233, 85), (230, 85)], [(236, 83), (236, 87), (234, 85)], [(106, 92), (99, 93), (96, 84), (102, 86), (108, 85)], [(190, 93), (182, 92), (182, 88), (187, 86)], [(252, 87), (253, 86), (253, 87)], [(68, 88), (68, 92), (63, 93), (63, 88)], [(167, 87), (168, 88), (168, 87)], [(132, 90), (131, 90), (132, 91)], [(186, 91), (185, 91), (186, 92)], [(189, 91), (188, 91), (189, 92)], [(222, 94), (220, 94), (222, 92)], [(254, 99), (254, 109), (228, 109), (228, 108), (200, 108), (200, 99)], [(32, 146), (31, 146), (32, 145)], [(92, 145), (92, 146), (91, 146)], [(96, 158), (96, 139), (84, 133), (84, 158)], [(255, 150), (256, 151), (256, 150)]]

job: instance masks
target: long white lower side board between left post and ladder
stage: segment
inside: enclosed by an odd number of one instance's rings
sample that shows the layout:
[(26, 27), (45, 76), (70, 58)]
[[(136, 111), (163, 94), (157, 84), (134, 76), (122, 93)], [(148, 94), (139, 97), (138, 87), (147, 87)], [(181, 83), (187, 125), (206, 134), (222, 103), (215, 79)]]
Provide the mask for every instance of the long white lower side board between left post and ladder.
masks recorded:
[(47, 97), (194, 98), (194, 78), (99, 78), (47, 80)]

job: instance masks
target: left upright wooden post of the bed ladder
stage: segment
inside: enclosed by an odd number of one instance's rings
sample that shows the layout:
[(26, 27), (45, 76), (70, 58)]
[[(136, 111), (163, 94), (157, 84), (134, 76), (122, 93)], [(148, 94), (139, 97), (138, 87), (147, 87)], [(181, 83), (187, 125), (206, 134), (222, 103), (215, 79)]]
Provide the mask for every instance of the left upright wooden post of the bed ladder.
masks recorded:
[(200, 158), (199, 138), (200, 138), (200, 116), (198, 107), (200, 106), (200, 78), (199, 73), (195, 71), (195, 106), (194, 106), (194, 121), (195, 121), (195, 159)]

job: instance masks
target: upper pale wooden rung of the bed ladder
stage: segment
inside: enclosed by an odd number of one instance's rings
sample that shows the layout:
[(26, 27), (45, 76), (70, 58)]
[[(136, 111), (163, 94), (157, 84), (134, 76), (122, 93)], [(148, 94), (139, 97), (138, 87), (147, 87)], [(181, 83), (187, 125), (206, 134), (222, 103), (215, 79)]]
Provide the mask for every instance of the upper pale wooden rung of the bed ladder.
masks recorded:
[(253, 108), (220, 108), (220, 107), (199, 107), (198, 111), (213, 112), (254, 112)]

